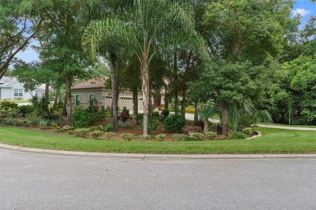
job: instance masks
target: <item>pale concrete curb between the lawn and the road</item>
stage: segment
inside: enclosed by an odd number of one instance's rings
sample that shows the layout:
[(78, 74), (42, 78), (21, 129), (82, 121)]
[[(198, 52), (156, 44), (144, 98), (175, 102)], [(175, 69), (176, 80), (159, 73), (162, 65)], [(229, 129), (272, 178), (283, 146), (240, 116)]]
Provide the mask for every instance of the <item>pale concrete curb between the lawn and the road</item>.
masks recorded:
[(123, 160), (148, 160), (148, 161), (205, 161), (205, 160), (316, 160), (316, 154), (126, 154), (126, 153), (99, 153), (77, 152), (51, 149), (29, 148), (0, 143), (1, 151), (17, 152), (24, 154), (58, 155), (77, 158), (93, 159), (123, 159)]

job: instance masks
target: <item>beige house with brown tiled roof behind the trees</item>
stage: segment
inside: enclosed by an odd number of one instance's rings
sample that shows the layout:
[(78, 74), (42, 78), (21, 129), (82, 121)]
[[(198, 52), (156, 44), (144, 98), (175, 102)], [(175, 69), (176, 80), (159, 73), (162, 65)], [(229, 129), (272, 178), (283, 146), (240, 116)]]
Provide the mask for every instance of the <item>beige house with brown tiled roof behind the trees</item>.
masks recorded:
[[(88, 101), (91, 98), (96, 98), (99, 101), (99, 105), (104, 107), (112, 106), (112, 92), (105, 89), (105, 81), (109, 77), (99, 76), (93, 79), (89, 79), (85, 82), (73, 85), (71, 87), (72, 93), (72, 109), (75, 107), (81, 107), (83, 109), (88, 107)], [(159, 105), (160, 100), (159, 101)], [(154, 102), (153, 102), (154, 103)], [(133, 95), (129, 91), (121, 91), (118, 95), (118, 107), (123, 109), (126, 106), (127, 109), (133, 110)], [(143, 95), (138, 93), (138, 110), (143, 110)]]

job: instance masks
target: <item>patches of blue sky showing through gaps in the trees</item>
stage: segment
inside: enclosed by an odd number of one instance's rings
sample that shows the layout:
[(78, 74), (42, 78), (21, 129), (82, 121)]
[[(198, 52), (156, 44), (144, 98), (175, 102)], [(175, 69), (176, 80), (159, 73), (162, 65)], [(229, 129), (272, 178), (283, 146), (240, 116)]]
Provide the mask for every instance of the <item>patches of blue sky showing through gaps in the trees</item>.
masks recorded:
[[(303, 29), (308, 18), (311, 15), (316, 15), (316, 2), (313, 3), (310, 0), (296, 0), (296, 3), (294, 4), (294, 8), (292, 12), (293, 12), (293, 15), (295, 15), (296, 13), (301, 14), (302, 24), (300, 25), (300, 29)], [(26, 48), (25, 51), (23, 52), (17, 53), (16, 57), (19, 59), (22, 59), (25, 62), (38, 60), (38, 54), (31, 47)]]

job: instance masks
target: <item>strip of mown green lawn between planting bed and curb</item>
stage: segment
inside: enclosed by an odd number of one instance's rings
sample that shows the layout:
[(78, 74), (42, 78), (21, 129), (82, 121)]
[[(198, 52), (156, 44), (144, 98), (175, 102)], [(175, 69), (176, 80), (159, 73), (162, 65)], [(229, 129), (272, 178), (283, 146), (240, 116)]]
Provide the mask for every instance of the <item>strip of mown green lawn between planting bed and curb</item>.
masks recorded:
[(152, 154), (316, 153), (316, 131), (256, 128), (253, 140), (113, 141), (61, 137), (15, 127), (0, 127), (1, 143), (42, 149)]

